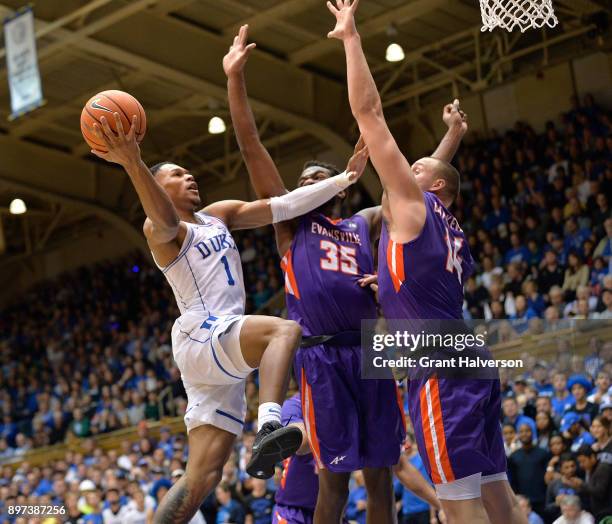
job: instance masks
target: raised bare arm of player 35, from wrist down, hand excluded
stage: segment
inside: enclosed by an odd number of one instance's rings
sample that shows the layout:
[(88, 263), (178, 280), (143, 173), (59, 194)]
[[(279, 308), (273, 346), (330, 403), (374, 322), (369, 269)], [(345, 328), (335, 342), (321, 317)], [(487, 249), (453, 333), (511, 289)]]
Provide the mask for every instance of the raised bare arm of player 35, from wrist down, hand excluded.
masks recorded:
[(255, 117), (249, 104), (243, 75), (228, 77), (227, 92), (236, 140), (249, 172), (257, 198), (270, 198), (287, 192), (274, 160), (261, 143)]

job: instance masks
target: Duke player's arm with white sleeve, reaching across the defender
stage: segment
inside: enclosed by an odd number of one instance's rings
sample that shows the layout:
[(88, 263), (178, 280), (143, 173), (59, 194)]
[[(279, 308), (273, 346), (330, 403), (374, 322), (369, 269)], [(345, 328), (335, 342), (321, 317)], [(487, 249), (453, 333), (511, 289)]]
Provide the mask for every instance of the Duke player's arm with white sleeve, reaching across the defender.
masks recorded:
[(216, 202), (204, 209), (208, 215), (216, 216), (227, 224), (229, 229), (252, 229), (292, 220), (310, 213), (336, 196), (363, 174), (368, 150), (360, 153), (361, 163), (353, 163), (355, 171), (341, 173), (316, 184), (303, 186), (279, 197), (272, 197), (255, 202), (225, 200)]

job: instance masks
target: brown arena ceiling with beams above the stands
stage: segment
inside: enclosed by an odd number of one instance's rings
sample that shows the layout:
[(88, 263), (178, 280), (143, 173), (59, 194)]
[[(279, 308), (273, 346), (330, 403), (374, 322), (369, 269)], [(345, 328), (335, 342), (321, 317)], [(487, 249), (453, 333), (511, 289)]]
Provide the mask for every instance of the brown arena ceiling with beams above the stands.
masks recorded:
[[(0, 16), (23, 4), (0, 0)], [(521, 35), (481, 33), (477, 0), (362, 0), (358, 23), (388, 118), (418, 118), (427, 101), (484, 90), (594, 46), (610, 48), (601, 16), (612, 14), (607, 0), (555, 0), (555, 6), (559, 28)], [(98, 91), (123, 89), (142, 102), (147, 162), (176, 159), (204, 187), (243, 176), (221, 67), (241, 24), (250, 25), (258, 44), (248, 86), (275, 158), (327, 149), (346, 154), (355, 139), (344, 55), (325, 38), (332, 18), (324, 0), (39, 0), (34, 13), (46, 105), (10, 122), (0, 63), (5, 268), (100, 219), (141, 242), (142, 215), (129, 180), (90, 155), (80, 134), (82, 105)], [(385, 61), (391, 40), (407, 51), (401, 63)], [(223, 135), (207, 132), (216, 114), (228, 123)], [(8, 214), (16, 195), (28, 199), (26, 215)]]

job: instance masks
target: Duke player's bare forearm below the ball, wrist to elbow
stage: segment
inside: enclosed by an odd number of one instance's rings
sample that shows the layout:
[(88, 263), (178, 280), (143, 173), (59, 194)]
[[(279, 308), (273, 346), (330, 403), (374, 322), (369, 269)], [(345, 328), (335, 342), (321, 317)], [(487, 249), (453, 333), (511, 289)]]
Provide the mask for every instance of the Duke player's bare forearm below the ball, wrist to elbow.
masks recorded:
[(159, 228), (177, 228), (180, 222), (174, 204), (168, 193), (161, 187), (142, 159), (124, 166), (145, 214)]

